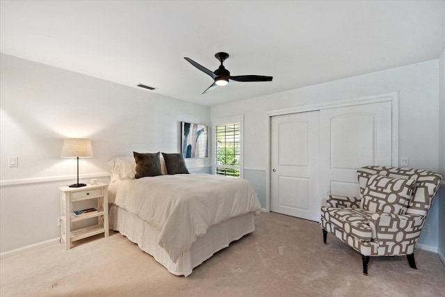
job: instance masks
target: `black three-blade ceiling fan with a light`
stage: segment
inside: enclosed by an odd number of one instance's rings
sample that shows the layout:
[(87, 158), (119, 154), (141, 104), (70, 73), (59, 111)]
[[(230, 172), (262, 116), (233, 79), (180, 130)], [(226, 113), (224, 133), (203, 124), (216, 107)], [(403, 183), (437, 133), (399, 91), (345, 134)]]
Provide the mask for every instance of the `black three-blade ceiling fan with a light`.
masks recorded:
[(218, 67), (217, 70), (214, 72), (208, 70), (206, 67), (196, 63), (191, 58), (184, 57), (188, 63), (191, 63), (191, 65), (197, 67), (197, 69), (201, 70), (205, 74), (208, 74), (212, 79), (213, 83), (209, 88), (204, 90), (202, 94), (205, 94), (209, 92), (210, 90), (213, 90), (213, 88), (216, 88), (216, 86), (225, 86), (229, 81), (242, 81), (242, 82), (249, 82), (249, 81), (272, 81), (273, 77), (264, 77), (262, 75), (239, 75), (237, 77), (232, 77), (230, 75), (229, 70), (225, 69), (223, 62), (229, 58), (229, 54), (220, 52), (215, 54), (215, 58), (220, 61), (221, 65)]

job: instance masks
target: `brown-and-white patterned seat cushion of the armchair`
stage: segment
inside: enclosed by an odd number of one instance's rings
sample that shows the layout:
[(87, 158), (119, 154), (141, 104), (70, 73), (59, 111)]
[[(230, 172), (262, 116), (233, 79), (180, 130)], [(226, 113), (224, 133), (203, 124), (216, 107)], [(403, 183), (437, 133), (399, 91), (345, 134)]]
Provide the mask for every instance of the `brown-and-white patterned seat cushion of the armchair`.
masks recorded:
[(372, 230), (369, 220), (373, 212), (358, 208), (321, 207), (321, 217), (335, 228), (361, 241), (371, 241)]

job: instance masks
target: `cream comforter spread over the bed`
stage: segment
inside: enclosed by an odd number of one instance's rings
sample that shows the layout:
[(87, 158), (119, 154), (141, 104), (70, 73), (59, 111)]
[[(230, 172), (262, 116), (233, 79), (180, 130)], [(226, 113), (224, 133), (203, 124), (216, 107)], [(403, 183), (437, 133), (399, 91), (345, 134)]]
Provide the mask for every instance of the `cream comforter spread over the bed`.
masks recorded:
[(261, 211), (245, 179), (218, 175), (159, 175), (113, 182), (111, 201), (160, 231), (159, 246), (173, 262), (207, 232), (229, 218)]

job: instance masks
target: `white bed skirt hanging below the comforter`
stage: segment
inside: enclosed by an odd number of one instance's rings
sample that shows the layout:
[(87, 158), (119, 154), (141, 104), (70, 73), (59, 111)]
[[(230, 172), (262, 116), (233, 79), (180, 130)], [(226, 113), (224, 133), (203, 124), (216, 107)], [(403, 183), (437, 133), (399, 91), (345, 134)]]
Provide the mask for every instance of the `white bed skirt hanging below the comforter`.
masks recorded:
[(215, 252), (227, 248), (229, 243), (241, 239), (255, 230), (254, 213), (231, 218), (213, 225), (207, 233), (200, 236), (191, 248), (173, 263), (167, 252), (158, 245), (159, 230), (113, 204), (110, 208), (110, 229), (119, 231), (139, 248), (152, 255), (156, 262), (165, 266), (174, 275), (191, 275), (193, 268), (209, 259)]

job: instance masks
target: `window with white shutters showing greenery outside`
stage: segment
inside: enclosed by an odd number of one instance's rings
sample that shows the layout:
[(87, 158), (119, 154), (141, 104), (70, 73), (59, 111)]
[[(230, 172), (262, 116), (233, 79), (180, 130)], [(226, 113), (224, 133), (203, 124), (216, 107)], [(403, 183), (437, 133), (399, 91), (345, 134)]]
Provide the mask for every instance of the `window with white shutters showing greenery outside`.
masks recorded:
[(243, 177), (242, 122), (242, 116), (213, 121), (214, 174)]

